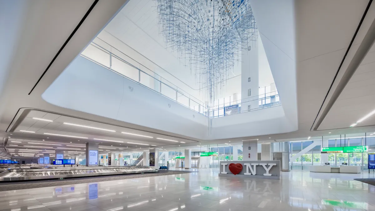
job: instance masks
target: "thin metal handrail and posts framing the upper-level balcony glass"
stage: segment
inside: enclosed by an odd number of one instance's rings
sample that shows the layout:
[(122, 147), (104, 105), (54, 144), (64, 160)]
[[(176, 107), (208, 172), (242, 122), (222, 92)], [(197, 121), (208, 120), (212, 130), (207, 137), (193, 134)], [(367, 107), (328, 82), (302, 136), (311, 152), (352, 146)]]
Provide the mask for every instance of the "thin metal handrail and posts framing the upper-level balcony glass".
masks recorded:
[[(104, 41), (103, 41), (103, 42), (104, 42)], [(109, 45), (107, 42), (105, 42), (105, 44)], [(195, 100), (195, 99), (192, 99), (192, 96), (191, 96), (191, 95), (187, 96), (187, 95), (185, 95), (185, 94), (183, 93), (183, 92), (185, 92), (184, 90), (178, 88), (177, 86), (175, 86), (176, 88), (174, 88), (174, 87), (170, 86), (169, 84), (164, 83), (164, 82), (162, 81), (162, 79), (165, 80), (165, 81), (168, 81), (168, 80), (166, 80), (165, 78), (163, 78), (163, 77), (161, 77), (160, 75), (156, 74), (155, 72), (151, 71), (151, 70), (148, 69), (147, 67), (145, 67), (145, 68), (146, 68), (148, 71), (153, 72), (155, 75), (159, 76), (160, 79), (159, 79), (159, 78), (155, 78), (153, 75), (150, 75), (150, 74), (148, 74), (148, 73), (145, 72), (145, 71), (142, 71), (142, 69), (140, 69), (140, 68), (138, 68), (138, 67), (132, 65), (131, 63), (129, 63), (129, 62), (127, 62), (126, 60), (122, 59), (120, 56), (118, 56), (118, 55), (114, 54), (113, 52), (107, 50), (106, 48), (104, 48), (104, 47), (102, 47), (102, 46), (96, 44), (95, 42), (92, 42), (92, 43), (90, 43), (89, 45), (91, 45), (91, 46), (95, 47), (96, 49), (101, 50), (101, 51), (103, 51), (104, 53), (106, 53), (106, 54), (109, 55), (109, 57), (110, 57), (110, 63), (109, 63), (109, 66), (107, 66), (107, 65), (105, 65), (105, 64), (102, 64), (102, 63), (100, 63), (98, 60), (96, 60), (96, 59), (94, 59), (94, 58), (91, 58), (91, 57), (85, 55), (85, 54), (84, 54), (85, 51), (83, 51), (83, 52), (80, 54), (80, 56), (82, 56), (82, 57), (84, 57), (84, 58), (86, 58), (86, 59), (88, 59), (88, 60), (91, 60), (92, 62), (97, 63), (98, 65), (101, 65), (101, 66), (103, 66), (104, 68), (107, 68), (107, 69), (109, 69), (109, 70), (111, 70), (111, 71), (113, 71), (113, 72), (115, 72), (115, 73), (117, 73), (117, 74), (119, 74), (119, 75), (121, 75), (121, 76), (123, 76), (123, 77), (126, 77), (126, 78), (128, 78), (129, 80), (132, 80), (132, 81), (134, 81), (135, 83), (138, 83), (138, 84), (140, 84), (140, 85), (142, 85), (142, 86), (144, 86), (144, 87), (146, 87), (146, 88), (148, 88), (148, 89), (150, 89), (150, 90), (153, 90), (153, 91), (159, 93), (160, 95), (163, 95), (163, 96), (165, 96), (165, 97), (167, 97), (167, 98), (169, 98), (169, 99), (172, 99), (172, 100), (176, 101), (177, 103), (179, 103), (179, 104), (181, 104), (181, 105), (183, 105), (183, 106), (185, 106), (185, 107), (187, 107), (187, 108), (189, 108), (189, 109), (192, 109), (192, 110), (194, 110), (195, 112), (197, 112), (197, 113), (199, 113), (199, 114), (201, 114), (201, 115), (207, 116), (208, 118), (216, 118), (216, 117), (219, 117), (219, 116), (214, 116), (214, 115), (213, 115), (213, 114), (214, 114), (214, 111), (215, 111), (215, 110), (219, 110), (219, 109), (223, 109), (223, 108), (225, 107), (225, 104), (227, 104), (226, 102), (225, 102), (224, 104), (220, 104), (220, 105), (222, 105), (222, 107), (220, 107), (219, 105), (209, 106), (209, 105), (207, 105), (207, 104), (204, 104), (202, 101), (199, 101), (199, 100), (196, 99), (195, 97), (194, 97), (194, 98), (195, 98), (196, 100)], [(109, 45), (109, 46), (110, 46), (111, 48), (113, 48), (111, 45)], [(114, 49), (116, 49), (116, 48), (114, 48)], [(116, 49), (116, 50), (117, 50), (117, 49)], [(117, 51), (119, 51), (119, 50), (117, 50)], [(121, 51), (119, 51), (119, 52), (122, 53)], [(124, 54), (124, 53), (122, 53), (122, 54)], [(126, 54), (124, 54), (124, 55), (127, 56)], [(136, 81), (136, 80), (134, 80), (134, 79), (132, 79), (132, 78), (130, 78), (130, 77), (127, 77), (127, 75), (121, 74), (120, 72), (117, 72), (116, 70), (114, 70), (114, 69), (112, 68), (112, 57), (114, 57), (114, 58), (120, 60), (121, 62), (123, 62), (123, 63), (125, 63), (125, 64), (131, 66), (132, 68), (136, 69), (136, 70), (138, 71), (138, 81)], [(127, 56), (127, 57), (129, 57), (129, 56)], [(129, 58), (130, 58), (130, 57), (129, 57)], [(131, 58), (130, 58), (130, 59), (131, 59)], [(133, 60), (134, 60), (134, 59), (133, 59)], [(135, 60), (134, 60), (134, 61), (135, 61)], [(136, 62), (136, 61), (135, 61), (135, 62)], [(141, 65), (139, 62), (137, 62), (137, 63), (138, 63), (139, 65)], [(143, 65), (142, 65), (142, 66), (143, 66)], [(142, 84), (142, 82), (141, 82), (141, 72), (142, 72), (143, 74), (148, 75), (148, 77), (153, 78), (153, 80), (154, 80), (155, 82), (157, 81), (157, 83), (160, 83), (160, 84), (159, 84), (159, 89), (158, 89), (158, 90), (155, 90), (155, 89), (152, 89), (152, 88), (148, 87), (146, 84)], [(169, 82), (169, 81), (168, 81), (168, 82)], [(171, 82), (169, 82), (169, 83), (172, 84)], [(161, 88), (162, 88), (162, 84), (164, 84), (165, 86), (169, 87), (171, 90), (173, 90), (173, 91), (175, 92), (175, 99), (173, 99), (173, 98), (171, 98), (171, 97), (169, 97), (169, 96), (167, 96), (167, 95), (165, 95), (165, 94), (162, 93), (162, 89), (161, 89)], [(174, 84), (172, 84), (172, 85), (174, 85)], [(179, 90), (179, 89), (180, 89), (180, 90)], [(183, 92), (181, 92), (181, 91), (183, 91)], [(185, 93), (187, 93), (187, 92), (185, 92)], [(270, 93), (275, 93), (275, 95), (266, 96), (267, 94), (270, 94)], [(178, 94), (180, 94), (181, 96), (185, 96), (185, 97), (188, 99), (188, 105), (185, 105), (185, 104), (183, 104), (182, 102), (178, 102), (178, 97), (179, 97)], [(187, 94), (188, 94), (188, 93), (187, 93)], [(180, 97), (181, 97), (181, 96), (180, 96)], [(260, 96), (262, 96), (262, 97), (260, 97)], [(264, 96), (264, 97), (263, 97), (263, 96)], [(232, 101), (232, 102), (229, 102), (229, 105), (237, 105), (237, 104), (238, 104), (238, 105), (240, 106), (242, 103), (251, 102), (251, 101), (255, 101), (255, 100), (258, 100), (258, 101), (259, 101), (259, 100), (262, 100), (262, 99), (270, 98), (271, 96), (278, 96), (278, 91), (273, 91), (273, 92), (264, 93), (264, 94), (257, 95), (257, 96), (251, 96), (251, 97), (249, 97), (249, 98), (245, 98), (245, 99), (240, 99), (240, 100)], [(251, 100), (251, 99), (252, 99), (252, 100)], [(191, 107), (191, 101), (192, 101), (192, 102), (195, 102), (196, 105), (193, 105), (193, 107)], [(197, 102), (197, 101), (199, 101), (199, 102)], [(275, 106), (278, 106), (278, 105), (281, 105), (280, 101), (278, 101), (277, 103), (275, 103)], [(196, 106), (198, 106), (198, 111), (195, 110), (195, 107), (196, 107)], [(251, 109), (251, 110), (243, 110), (243, 111), (241, 111), (241, 112), (239, 112), (239, 113), (249, 112), (249, 111), (252, 111), (252, 110), (260, 110), (260, 109), (264, 109), (264, 108), (268, 108), (268, 107), (273, 107), (273, 105), (262, 106), (262, 107), (254, 108), (254, 109)], [(221, 116), (223, 116), (223, 115), (221, 115)]]

